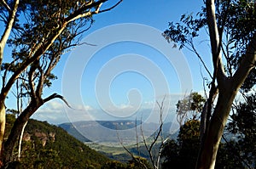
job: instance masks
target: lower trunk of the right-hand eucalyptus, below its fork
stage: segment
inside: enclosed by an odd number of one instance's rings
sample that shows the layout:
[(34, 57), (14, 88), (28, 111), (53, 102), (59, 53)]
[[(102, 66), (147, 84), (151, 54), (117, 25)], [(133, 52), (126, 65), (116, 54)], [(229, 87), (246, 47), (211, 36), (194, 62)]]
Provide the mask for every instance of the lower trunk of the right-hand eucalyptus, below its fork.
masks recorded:
[(201, 156), (197, 163), (198, 169), (214, 169), (218, 144), (222, 138), (224, 126), (228, 120), (237, 91), (238, 88), (232, 87), (232, 82), (229, 80), (225, 87), (219, 91), (218, 101), (212, 114), (207, 135), (201, 145)]

